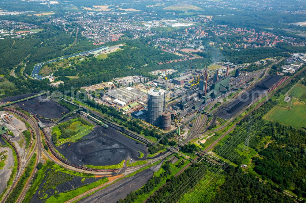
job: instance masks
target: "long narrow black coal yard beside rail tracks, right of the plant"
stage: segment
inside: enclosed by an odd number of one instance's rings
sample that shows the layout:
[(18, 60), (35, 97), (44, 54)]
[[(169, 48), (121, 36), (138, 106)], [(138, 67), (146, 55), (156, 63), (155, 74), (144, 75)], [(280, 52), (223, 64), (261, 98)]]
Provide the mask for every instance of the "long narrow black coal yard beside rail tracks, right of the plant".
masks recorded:
[[(242, 93), (230, 104), (223, 107), (223, 110), (218, 113), (219, 118), (230, 119), (237, 112), (239, 112), (242, 108), (252, 103), (259, 95), (263, 94), (267, 89), (272, 87), (272, 85), (276, 84), (281, 79), (280, 76), (268, 76), (264, 78), (261, 82), (259, 82), (256, 86), (252, 87), (248, 93)], [(254, 92), (256, 92), (254, 94)]]

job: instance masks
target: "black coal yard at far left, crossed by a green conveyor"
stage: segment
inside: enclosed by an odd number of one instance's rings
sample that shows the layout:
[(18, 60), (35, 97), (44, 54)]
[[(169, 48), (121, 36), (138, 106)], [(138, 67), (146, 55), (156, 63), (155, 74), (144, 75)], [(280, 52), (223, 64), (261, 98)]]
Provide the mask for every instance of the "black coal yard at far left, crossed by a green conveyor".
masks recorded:
[[(36, 94), (37, 93), (30, 93), (30, 94), (21, 94), (13, 97), (7, 97), (2, 99), (2, 102), (7, 102), (7, 101), (14, 102)], [(47, 100), (46, 102), (42, 102), (43, 99), (45, 98), (47, 97), (41, 96), (40, 98), (32, 98), (29, 99), (28, 101), (16, 103), (15, 105), (22, 109), (30, 111), (34, 114), (39, 114), (44, 118), (50, 118), (50, 119), (61, 118), (63, 113), (65, 114), (69, 112), (67, 108), (59, 105), (57, 102), (51, 99)]]

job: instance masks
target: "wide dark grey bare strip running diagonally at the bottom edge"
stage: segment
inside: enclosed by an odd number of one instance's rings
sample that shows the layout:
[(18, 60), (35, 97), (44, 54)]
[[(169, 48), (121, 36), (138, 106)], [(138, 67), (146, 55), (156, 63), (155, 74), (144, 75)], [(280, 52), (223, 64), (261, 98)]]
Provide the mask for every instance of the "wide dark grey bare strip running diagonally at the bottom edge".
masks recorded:
[(115, 203), (120, 199), (125, 198), (130, 192), (138, 190), (148, 180), (153, 177), (153, 173), (157, 171), (162, 162), (156, 166), (152, 166), (149, 169), (143, 170), (137, 173), (135, 176), (124, 178), (117, 183), (106, 187), (105, 189), (96, 192), (95, 194), (82, 199), (79, 202), (82, 203)]

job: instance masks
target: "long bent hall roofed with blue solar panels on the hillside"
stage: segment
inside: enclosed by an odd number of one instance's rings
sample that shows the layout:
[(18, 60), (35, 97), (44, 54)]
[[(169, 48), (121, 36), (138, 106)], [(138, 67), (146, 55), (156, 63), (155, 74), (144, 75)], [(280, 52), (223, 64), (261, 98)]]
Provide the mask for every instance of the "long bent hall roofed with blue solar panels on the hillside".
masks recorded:
[(45, 78), (44, 76), (40, 76), (39, 75), (39, 71), (41, 69), (41, 67), (44, 65), (44, 64), (48, 64), (48, 63), (53, 63), (53, 62), (56, 62), (58, 60), (62, 60), (62, 59), (68, 59), (68, 58), (72, 58), (72, 57), (75, 57), (75, 56), (80, 56), (80, 55), (86, 55), (86, 54), (89, 54), (91, 52), (96, 52), (98, 50), (104, 50), (104, 49), (108, 49), (108, 46), (102, 46), (102, 47), (99, 47), (99, 48), (96, 48), (96, 49), (93, 49), (93, 50), (90, 50), (90, 51), (86, 51), (86, 52), (80, 52), (80, 53), (77, 53), (77, 54), (72, 54), (72, 55), (68, 55), (68, 56), (64, 56), (62, 58), (58, 58), (58, 59), (53, 59), (51, 61), (47, 61), (47, 62), (43, 62), (43, 63), (38, 63), (34, 66), (34, 69), (32, 71), (32, 74), (31, 76), (38, 79), (38, 80), (43, 80), (43, 78)]

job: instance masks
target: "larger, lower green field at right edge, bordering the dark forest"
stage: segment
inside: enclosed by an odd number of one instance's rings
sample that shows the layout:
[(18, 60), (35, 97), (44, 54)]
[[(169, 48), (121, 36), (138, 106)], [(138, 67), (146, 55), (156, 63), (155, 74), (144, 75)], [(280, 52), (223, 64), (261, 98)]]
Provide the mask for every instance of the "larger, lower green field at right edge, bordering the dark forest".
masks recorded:
[[(297, 95), (296, 92), (291, 94)], [(306, 105), (292, 98), (290, 102), (274, 106), (263, 118), (297, 128), (306, 127)]]

